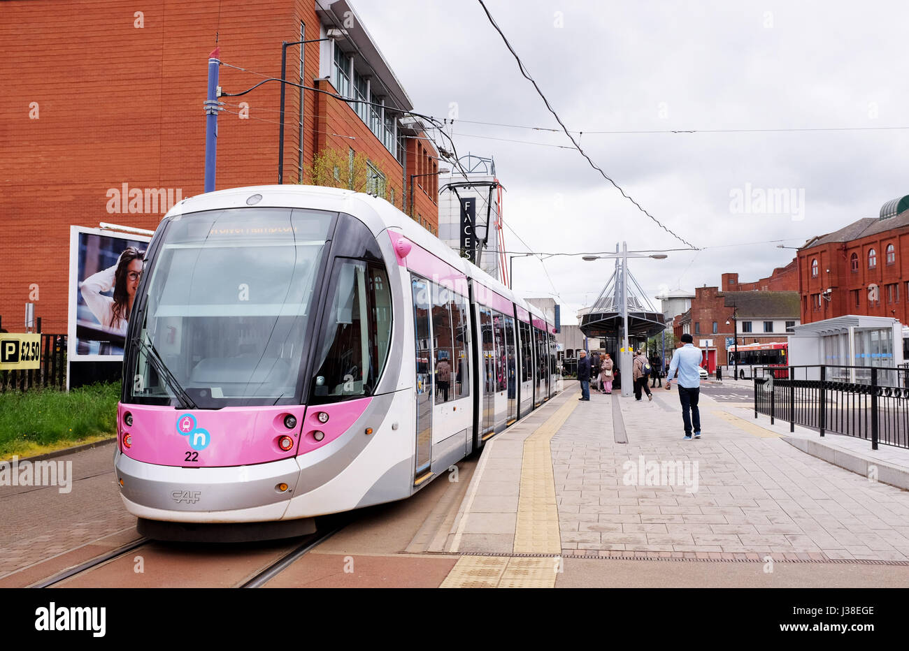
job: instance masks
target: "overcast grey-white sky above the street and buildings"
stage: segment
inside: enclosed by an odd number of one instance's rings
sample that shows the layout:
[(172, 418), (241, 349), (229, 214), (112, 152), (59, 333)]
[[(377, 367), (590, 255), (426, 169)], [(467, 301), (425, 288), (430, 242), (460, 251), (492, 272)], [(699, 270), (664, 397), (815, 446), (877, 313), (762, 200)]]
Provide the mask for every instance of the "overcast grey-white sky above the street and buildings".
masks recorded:
[[(504, 221), (539, 252), (675, 249), (564, 133), (478, 2), (352, 0), (415, 110), (456, 103), (458, 153), (493, 156)], [(584, 150), (660, 222), (704, 251), (630, 269), (665, 288), (769, 275), (796, 246), (909, 193), (901, 2), (546, 2), (486, 5)], [(877, 127), (864, 131), (610, 133)], [(472, 137), (483, 136), (483, 137)], [(507, 139), (525, 143), (505, 142)], [(538, 144), (530, 144), (538, 143)], [(786, 203), (755, 204), (773, 190)], [(747, 192), (747, 193), (746, 193)], [(749, 202), (749, 194), (752, 200)], [(525, 251), (505, 230), (509, 251)], [(594, 301), (612, 261), (514, 261), (514, 288), (554, 294), (563, 322)], [(654, 301), (655, 302), (655, 301)], [(658, 307), (658, 303), (657, 307)]]

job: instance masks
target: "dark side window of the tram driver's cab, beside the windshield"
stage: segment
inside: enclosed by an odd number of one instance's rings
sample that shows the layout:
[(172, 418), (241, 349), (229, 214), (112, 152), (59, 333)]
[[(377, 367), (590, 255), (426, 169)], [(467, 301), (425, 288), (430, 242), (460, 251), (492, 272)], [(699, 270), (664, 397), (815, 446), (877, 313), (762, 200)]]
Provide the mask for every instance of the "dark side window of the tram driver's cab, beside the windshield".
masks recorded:
[(334, 274), (334, 295), (316, 358), (315, 402), (373, 395), (391, 340), (391, 291), (385, 269), (345, 260), (340, 266), (335, 262)]

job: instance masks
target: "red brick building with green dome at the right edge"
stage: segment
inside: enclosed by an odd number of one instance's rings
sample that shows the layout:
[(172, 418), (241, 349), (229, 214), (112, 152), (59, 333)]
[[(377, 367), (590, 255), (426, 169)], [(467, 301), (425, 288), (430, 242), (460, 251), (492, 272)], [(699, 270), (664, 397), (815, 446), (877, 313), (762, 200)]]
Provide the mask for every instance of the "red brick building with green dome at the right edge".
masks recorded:
[(798, 252), (802, 322), (893, 317), (909, 322), (909, 197), (809, 240)]

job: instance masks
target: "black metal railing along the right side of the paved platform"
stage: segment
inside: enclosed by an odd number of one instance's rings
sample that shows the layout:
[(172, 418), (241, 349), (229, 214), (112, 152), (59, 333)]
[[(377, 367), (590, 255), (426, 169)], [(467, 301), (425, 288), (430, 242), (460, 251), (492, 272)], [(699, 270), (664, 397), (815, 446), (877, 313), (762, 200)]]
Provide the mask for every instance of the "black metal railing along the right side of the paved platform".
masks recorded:
[[(784, 371), (784, 372), (783, 372)], [(754, 370), (758, 414), (826, 432), (909, 448), (909, 369), (790, 366)]]

